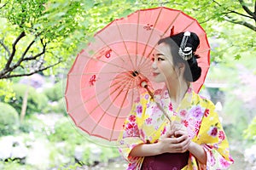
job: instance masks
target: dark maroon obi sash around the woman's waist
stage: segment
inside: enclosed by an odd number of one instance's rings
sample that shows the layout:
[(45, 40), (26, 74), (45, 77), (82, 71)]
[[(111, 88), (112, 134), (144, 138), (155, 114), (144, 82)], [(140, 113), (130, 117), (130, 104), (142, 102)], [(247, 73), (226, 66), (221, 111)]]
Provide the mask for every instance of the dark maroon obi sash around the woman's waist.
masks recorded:
[(189, 151), (145, 156), (141, 170), (180, 170), (188, 164)]

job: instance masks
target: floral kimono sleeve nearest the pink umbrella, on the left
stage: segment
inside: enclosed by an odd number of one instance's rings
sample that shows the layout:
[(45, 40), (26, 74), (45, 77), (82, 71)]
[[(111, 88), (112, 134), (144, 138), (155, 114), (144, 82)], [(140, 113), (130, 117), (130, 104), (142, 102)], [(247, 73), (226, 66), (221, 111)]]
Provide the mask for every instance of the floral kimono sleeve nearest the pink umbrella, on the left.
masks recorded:
[(143, 144), (140, 138), (139, 116), (142, 116), (143, 105), (135, 104), (132, 106), (131, 113), (127, 116), (123, 125), (123, 130), (119, 134), (119, 152), (130, 164), (137, 164), (142, 161), (142, 157), (129, 156), (131, 150), (138, 144)]

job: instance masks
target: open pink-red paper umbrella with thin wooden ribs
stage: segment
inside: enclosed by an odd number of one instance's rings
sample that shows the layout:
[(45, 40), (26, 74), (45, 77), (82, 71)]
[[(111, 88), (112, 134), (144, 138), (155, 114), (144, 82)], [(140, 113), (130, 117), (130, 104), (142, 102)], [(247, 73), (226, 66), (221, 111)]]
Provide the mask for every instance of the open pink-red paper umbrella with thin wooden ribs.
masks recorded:
[(170, 33), (193, 31), (200, 38), (198, 63), (202, 73), (193, 83), (198, 92), (209, 68), (210, 47), (199, 23), (172, 8), (138, 10), (113, 20), (98, 31), (94, 41), (82, 50), (67, 75), (67, 113), (77, 127), (102, 139), (116, 140), (131, 111), (131, 105), (148, 88), (159, 88), (150, 81), (154, 47)]

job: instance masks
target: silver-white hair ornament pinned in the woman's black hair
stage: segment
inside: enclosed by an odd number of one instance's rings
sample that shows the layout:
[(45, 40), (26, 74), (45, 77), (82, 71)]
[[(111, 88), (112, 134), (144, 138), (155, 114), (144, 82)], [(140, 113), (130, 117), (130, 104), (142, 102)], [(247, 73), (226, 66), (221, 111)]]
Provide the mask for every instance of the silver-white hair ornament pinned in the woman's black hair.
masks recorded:
[(192, 48), (191, 47), (186, 47), (188, 39), (190, 37), (190, 32), (185, 31), (183, 34), (183, 40), (180, 43), (180, 47), (178, 49), (178, 54), (183, 58), (184, 60), (189, 60), (192, 58)]

